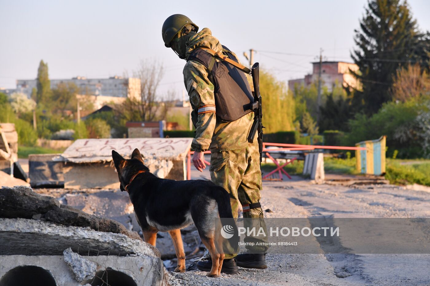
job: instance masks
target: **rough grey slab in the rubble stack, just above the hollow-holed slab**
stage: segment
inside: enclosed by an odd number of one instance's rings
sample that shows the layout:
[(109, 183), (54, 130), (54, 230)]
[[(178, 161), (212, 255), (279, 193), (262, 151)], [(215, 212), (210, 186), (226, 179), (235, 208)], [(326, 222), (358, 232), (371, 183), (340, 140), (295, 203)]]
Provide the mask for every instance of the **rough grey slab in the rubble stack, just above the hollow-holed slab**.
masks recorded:
[(70, 247), (86, 256), (160, 257), (154, 246), (125, 234), (34, 219), (0, 219), (0, 241), (0, 255), (63, 255), (63, 250)]

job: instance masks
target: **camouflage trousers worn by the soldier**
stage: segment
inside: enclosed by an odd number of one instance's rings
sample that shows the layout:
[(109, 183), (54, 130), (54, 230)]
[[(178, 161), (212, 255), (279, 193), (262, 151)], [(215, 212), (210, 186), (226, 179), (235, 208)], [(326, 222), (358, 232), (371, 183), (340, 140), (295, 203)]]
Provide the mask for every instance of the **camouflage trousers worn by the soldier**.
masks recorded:
[[(238, 216), (239, 204), (252, 204), (260, 201), (262, 185), (257, 140), (240, 149), (212, 151), (209, 171), (212, 182), (230, 193), (234, 218)], [(252, 220), (245, 220), (252, 225), (244, 225), (244, 227), (256, 227), (257, 231), (263, 227), (267, 234), (261, 207), (244, 212), (243, 218), (252, 218)], [(245, 237), (244, 242), (251, 253), (264, 253), (268, 248), (256, 245), (257, 243), (267, 243), (267, 237)], [(251, 243), (254, 243), (254, 246), (250, 246)], [(230, 259), (235, 256), (236, 254), (226, 253), (225, 258)]]

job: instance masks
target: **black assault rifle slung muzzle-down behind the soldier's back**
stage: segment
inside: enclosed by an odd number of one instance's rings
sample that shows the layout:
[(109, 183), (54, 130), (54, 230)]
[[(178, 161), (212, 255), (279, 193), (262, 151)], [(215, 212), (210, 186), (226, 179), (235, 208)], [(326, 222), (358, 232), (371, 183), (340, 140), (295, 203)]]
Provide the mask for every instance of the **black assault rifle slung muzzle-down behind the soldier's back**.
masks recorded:
[(259, 64), (255, 63), (251, 67), (252, 84), (254, 85), (254, 103), (252, 103), (252, 110), (254, 110), (254, 122), (252, 122), (251, 131), (249, 131), (248, 142), (254, 142), (255, 133), (258, 131), (258, 151), (260, 152), (260, 164), (261, 156), (263, 152), (263, 123), (261, 118), (263, 117), (261, 112), (261, 94), (260, 94), (260, 84), (259, 84)]

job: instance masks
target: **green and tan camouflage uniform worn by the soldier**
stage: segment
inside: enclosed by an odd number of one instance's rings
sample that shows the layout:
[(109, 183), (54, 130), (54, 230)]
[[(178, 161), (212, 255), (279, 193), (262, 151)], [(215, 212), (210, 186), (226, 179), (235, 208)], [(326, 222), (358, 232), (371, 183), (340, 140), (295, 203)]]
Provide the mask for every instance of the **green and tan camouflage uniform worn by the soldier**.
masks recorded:
[[(218, 39), (212, 37), (211, 31), (204, 28), (199, 33), (192, 32), (184, 43), (178, 35), (173, 45), (184, 45), (185, 58), (198, 47), (206, 47), (215, 52), (223, 48)], [(233, 53), (232, 53), (233, 54)], [(234, 54), (233, 54), (234, 55)], [(234, 55), (236, 57), (236, 55)], [(251, 204), (260, 201), (261, 170), (258, 142), (248, 143), (247, 137), (251, 129), (254, 113), (248, 113), (234, 122), (222, 122), (215, 116), (214, 110), (197, 114), (200, 106), (215, 106), (214, 85), (208, 78), (203, 64), (187, 61), (184, 67), (184, 83), (193, 107), (192, 119), (196, 126), (196, 137), (191, 147), (203, 152), (210, 149), (211, 165), (209, 167), (212, 182), (224, 187), (230, 193), (233, 217), (237, 217), (240, 204)], [(247, 75), (250, 79), (250, 76)], [(252, 86), (252, 85), (251, 85)], [(257, 137), (257, 135), (256, 135)], [(261, 208), (251, 209), (243, 213), (244, 218), (260, 218), (264, 226)], [(265, 238), (246, 237), (245, 242), (267, 241)], [(254, 250), (265, 251), (265, 246), (254, 246)], [(234, 257), (228, 257), (226, 259)]]

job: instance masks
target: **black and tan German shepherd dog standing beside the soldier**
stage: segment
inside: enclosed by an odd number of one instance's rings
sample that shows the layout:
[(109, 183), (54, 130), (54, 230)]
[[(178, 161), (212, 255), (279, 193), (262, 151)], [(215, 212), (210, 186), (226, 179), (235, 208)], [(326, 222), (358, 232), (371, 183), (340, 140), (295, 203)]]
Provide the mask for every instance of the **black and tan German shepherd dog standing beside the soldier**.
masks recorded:
[(129, 193), (145, 242), (155, 246), (157, 232), (169, 232), (178, 257), (175, 272), (184, 272), (185, 253), (180, 230), (194, 222), (212, 257), (212, 268), (206, 276), (218, 277), (225, 256), (222, 240), (217, 239), (219, 218), (229, 218), (229, 225), (237, 233), (228, 192), (205, 180), (160, 179), (149, 172), (138, 149), (133, 151), (131, 159), (112, 150), (112, 159), (120, 189)]

